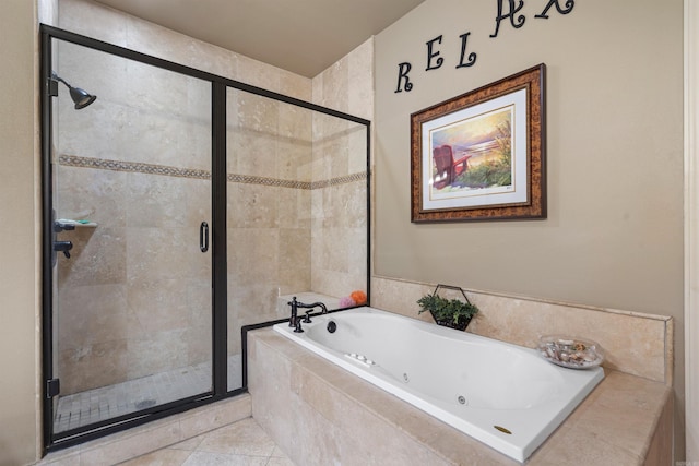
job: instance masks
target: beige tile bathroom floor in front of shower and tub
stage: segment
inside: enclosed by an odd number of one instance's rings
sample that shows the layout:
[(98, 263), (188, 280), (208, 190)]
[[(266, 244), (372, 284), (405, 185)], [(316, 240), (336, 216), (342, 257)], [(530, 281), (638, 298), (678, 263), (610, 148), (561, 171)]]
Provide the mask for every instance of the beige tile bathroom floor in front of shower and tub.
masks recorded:
[(294, 466), (252, 418), (139, 456), (121, 466)]

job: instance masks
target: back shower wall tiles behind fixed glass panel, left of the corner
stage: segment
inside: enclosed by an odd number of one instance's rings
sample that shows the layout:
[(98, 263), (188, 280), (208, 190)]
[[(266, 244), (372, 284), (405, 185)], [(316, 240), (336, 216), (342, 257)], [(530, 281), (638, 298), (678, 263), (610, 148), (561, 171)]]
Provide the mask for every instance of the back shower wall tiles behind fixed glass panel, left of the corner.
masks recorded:
[(279, 319), (276, 297), (310, 287), (311, 116), (227, 93), (228, 354), (240, 326)]

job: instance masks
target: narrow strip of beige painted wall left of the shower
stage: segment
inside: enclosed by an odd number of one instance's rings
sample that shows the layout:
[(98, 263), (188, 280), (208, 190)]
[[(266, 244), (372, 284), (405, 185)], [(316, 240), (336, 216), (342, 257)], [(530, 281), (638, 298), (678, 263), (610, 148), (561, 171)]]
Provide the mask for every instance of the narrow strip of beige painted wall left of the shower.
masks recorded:
[(35, 14), (34, 2), (2, 2), (0, 241), (5, 247), (0, 261), (0, 465), (32, 462), (38, 443)]

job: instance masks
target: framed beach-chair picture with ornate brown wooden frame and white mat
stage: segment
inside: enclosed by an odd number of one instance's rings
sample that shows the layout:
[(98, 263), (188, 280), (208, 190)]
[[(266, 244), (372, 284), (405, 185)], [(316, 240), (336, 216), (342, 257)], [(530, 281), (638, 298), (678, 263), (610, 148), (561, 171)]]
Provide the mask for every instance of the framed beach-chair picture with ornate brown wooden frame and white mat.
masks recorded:
[(413, 223), (546, 218), (545, 71), (411, 116)]

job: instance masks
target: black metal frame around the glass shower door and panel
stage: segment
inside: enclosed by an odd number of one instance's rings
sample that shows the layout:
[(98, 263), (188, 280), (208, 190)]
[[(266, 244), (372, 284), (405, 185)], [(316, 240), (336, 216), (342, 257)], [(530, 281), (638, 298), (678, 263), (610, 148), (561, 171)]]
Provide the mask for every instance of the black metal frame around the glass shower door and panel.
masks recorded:
[[(270, 326), (279, 321), (262, 322), (241, 328), (242, 340), (242, 363), (244, 382), (242, 387), (228, 391), (227, 386), (227, 244), (226, 244), (226, 202), (227, 202), (227, 177), (226, 177), (226, 95), (227, 88), (236, 88), (258, 96), (271, 98), (285, 104), (313, 110), (328, 116), (348, 120), (365, 127), (366, 130), (366, 159), (367, 159), (367, 303), (370, 302), (371, 285), (371, 122), (348, 113), (344, 113), (331, 108), (325, 108), (316, 104), (300, 100), (283, 94), (274, 93), (261, 87), (234, 81), (216, 74), (208, 73), (194, 68), (182, 65), (162, 58), (149, 56), (131, 49), (127, 49), (114, 44), (97, 40), (87, 36), (71, 33), (46, 24), (40, 24), (40, 86), (42, 86), (42, 294), (43, 294), (43, 423), (44, 423), (44, 451), (63, 449), (78, 443), (86, 442), (99, 437), (122, 431), (139, 425), (143, 425), (156, 419), (161, 419), (174, 414), (182, 413), (199, 406), (211, 404), (224, 398), (233, 397), (241, 393), (247, 393), (247, 331)], [(198, 77), (209, 81), (212, 85), (212, 371), (213, 391), (182, 398), (173, 403), (135, 411), (131, 415), (115, 417), (108, 421), (96, 422), (84, 428), (55, 434), (52, 429), (54, 406), (51, 393), (55, 391), (54, 380), (54, 335), (52, 335), (52, 164), (51, 164), (51, 140), (52, 140), (52, 99), (50, 96), (49, 82), (52, 68), (52, 46), (51, 40), (59, 39), (106, 53), (111, 53), (129, 60), (150, 64), (176, 73)]]

